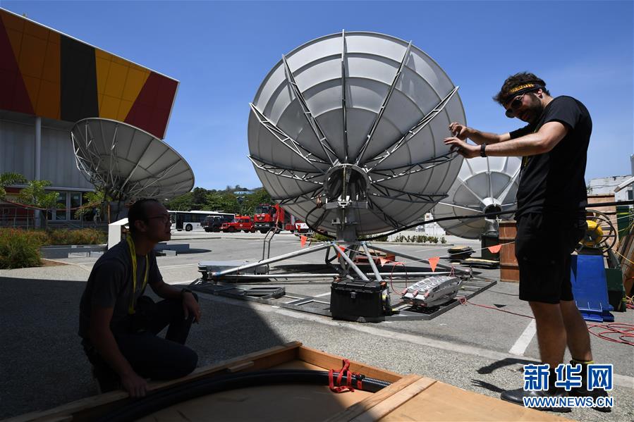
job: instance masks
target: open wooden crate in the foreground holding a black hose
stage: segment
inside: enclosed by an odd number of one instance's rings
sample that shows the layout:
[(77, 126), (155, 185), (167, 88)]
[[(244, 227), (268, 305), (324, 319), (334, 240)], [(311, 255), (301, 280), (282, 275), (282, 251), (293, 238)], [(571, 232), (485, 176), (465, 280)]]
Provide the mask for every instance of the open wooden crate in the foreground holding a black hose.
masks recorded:
[[(266, 368), (310, 368), (339, 371), (341, 356), (303, 347), (300, 342), (272, 347), (198, 368), (179, 380), (150, 383), (152, 391)], [(219, 392), (190, 399), (146, 416), (140, 421), (565, 421), (553, 414), (525, 409), (500, 399), (441, 383), (432, 378), (385, 371), (350, 361), (350, 371), (391, 382), (376, 393), (355, 390), (336, 394), (326, 385), (267, 385)], [(88, 397), (44, 412), (25, 414), (18, 421), (92, 421), (130, 402), (123, 391)]]

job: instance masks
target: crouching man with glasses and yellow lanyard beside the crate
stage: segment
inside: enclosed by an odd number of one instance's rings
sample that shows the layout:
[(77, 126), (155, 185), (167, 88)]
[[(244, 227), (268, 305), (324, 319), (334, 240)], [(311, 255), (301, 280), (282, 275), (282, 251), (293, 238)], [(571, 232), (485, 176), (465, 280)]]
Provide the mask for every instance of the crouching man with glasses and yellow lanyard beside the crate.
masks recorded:
[[(123, 387), (132, 397), (147, 390), (145, 378), (171, 380), (196, 368), (185, 347), (200, 320), (197, 297), (164, 283), (154, 246), (171, 238), (169, 213), (155, 199), (128, 212), (130, 235), (97, 260), (80, 303), (79, 335), (102, 392)], [(145, 286), (164, 298), (154, 304)], [(157, 334), (167, 327), (165, 338)]]

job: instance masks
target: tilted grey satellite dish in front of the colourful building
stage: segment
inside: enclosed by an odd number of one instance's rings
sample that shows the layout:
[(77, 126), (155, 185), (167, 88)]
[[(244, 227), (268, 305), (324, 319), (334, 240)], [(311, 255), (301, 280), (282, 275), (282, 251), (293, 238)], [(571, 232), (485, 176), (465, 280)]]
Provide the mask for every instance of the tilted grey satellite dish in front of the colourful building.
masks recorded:
[(71, 129), (77, 167), (119, 200), (169, 199), (192, 190), (194, 173), (178, 152), (139, 128), (104, 118)]

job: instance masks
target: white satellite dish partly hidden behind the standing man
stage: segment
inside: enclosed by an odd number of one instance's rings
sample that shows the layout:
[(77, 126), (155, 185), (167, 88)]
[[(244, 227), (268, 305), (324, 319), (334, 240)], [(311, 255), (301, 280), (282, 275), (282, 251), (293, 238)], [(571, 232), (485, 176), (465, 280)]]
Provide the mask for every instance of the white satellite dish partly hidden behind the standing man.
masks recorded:
[[(458, 178), (449, 190), (449, 197), (434, 207), (434, 218), (475, 216), (481, 213), (508, 211), (516, 207), (519, 157), (476, 157), (464, 160)], [(511, 214), (499, 216), (511, 218)], [(495, 217), (451, 219), (438, 224), (450, 235), (477, 239), (484, 232), (495, 230)]]

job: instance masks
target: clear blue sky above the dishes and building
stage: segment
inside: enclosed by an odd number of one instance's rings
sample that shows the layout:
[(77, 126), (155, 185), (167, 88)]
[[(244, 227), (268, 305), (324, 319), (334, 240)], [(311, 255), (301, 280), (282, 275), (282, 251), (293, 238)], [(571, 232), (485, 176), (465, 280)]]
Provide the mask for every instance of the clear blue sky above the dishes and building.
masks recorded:
[(633, 1), (8, 1), (0, 6), (181, 82), (165, 140), (198, 187), (260, 186), (249, 102), (296, 46), (334, 32), (413, 41), (460, 85), (468, 125), (507, 132), (491, 97), (522, 70), (590, 110), (586, 181), (628, 175)]

